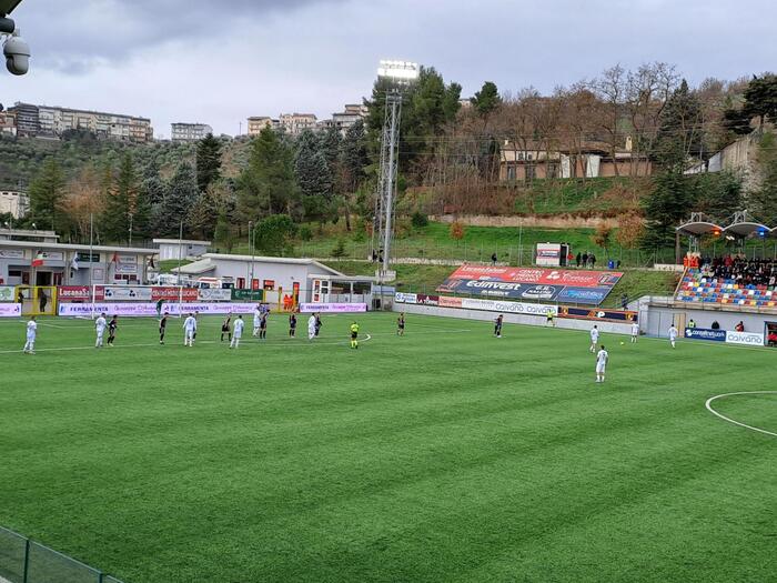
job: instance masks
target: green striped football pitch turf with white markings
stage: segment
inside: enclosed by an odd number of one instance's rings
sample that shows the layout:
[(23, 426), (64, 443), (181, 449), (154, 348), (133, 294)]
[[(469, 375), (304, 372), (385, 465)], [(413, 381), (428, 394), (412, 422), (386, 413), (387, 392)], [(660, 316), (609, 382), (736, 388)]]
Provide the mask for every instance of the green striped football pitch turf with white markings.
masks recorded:
[[(777, 352), (603, 334), (599, 385), (585, 331), (352, 320), (0, 322), (0, 524), (127, 583), (777, 579), (777, 436), (705, 408)], [(777, 394), (714, 408), (777, 433)]]

